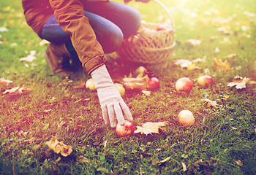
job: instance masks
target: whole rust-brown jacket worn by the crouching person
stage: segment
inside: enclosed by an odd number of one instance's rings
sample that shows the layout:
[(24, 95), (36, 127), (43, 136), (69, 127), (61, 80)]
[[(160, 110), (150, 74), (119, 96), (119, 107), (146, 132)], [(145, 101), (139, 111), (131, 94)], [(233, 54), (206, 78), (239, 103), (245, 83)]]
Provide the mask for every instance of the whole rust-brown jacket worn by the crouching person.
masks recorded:
[(46, 20), (54, 13), (87, 74), (105, 63), (102, 47), (84, 15), (83, 0), (22, 0), (22, 4), (27, 23), (41, 38)]

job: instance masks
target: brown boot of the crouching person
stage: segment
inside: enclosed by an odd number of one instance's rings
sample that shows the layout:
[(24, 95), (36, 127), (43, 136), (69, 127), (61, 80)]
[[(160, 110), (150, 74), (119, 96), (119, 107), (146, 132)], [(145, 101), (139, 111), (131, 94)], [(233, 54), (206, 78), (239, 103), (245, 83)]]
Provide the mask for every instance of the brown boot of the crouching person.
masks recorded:
[(45, 51), (45, 60), (49, 64), (50, 70), (56, 74), (68, 75), (72, 73), (69, 63), (70, 57), (65, 43), (50, 43)]

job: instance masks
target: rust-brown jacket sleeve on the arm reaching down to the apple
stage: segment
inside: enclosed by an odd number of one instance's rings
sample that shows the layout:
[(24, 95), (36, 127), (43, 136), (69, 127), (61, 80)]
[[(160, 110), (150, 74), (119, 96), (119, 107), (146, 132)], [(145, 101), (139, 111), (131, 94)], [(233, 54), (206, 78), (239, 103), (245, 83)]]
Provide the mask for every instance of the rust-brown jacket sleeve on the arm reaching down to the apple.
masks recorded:
[(87, 74), (102, 66), (106, 59), (101, 45), (84, 15), (79, 0), (49, 0), (61, 28), (70, 36), (71, 42)]

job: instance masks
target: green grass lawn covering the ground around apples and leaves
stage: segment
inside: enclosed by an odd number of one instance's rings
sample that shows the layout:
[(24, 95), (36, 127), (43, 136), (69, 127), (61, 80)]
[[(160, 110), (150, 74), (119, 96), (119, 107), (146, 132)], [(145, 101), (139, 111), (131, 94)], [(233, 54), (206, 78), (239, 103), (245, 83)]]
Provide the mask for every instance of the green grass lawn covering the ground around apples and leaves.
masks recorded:
[[(121, 1), (121, 0), (120, 0)], [(119, 138), (105, 126), (97, 94), (86, 88), (74, 89), (80, 81), (89, 78), (83, 71), (69, 77), (53, 74), (44, 60), (46, 46), (26, 25), (20, 1), (0, 1), (0, 78), (12, 80), (8, 88), (31, 88), (21, 95), (2, 94), (7, 88), (0, 86), (0, 174), (255, 174), (256, 173), (256, 89), (227, 87), (233, 77), (256, 78), (255, 24), (246, 12), (255, 12), (255, 1), (177, 1), (162, 0), (170, 9), (176, 23), (176, 48), (172, 59), (205, 58), (200, 70), (189, 71), (173, 66), (155, 69), (161, 82), (159, 90), (145, 96), (127, 93), (124, 97), (135, 118), (134, 124), (167, 121), (167, 131), (160, 134), (134, 134)], [(164, 11), (153, 2), (130, 3), (138, 8), (143, 19), (160, 23)], [(150, 11), (148, 11), (150, 9)], [(210, 15), (204, 12), (210, 10)], [(217, 18), (229, 23), (214, 24)], [(231, 35), (219, 34), (217, 28), (228, 26)], [(242, 31), (241, 26), (250, 29)], [(243, 33), (250, 34), (244, 38)], [(209, 41), (210, 36), (217, 36)], [(228, 38), (230, 44), (223, 43)], [(187, 39), (201, 39), (200, 48), (189, 47)], [(214, 52), (215, 48), (220, 52)], [(24, 63), (18, 58), (36, 50), (37, 59)], [(228, 60), (230, 71), (219, 71), (214, 58)], [(137, 65), (136, 65), (137, 66)], [(133, 72), (135, 66), (127, 67)], [(214, 78), (211, 88), (197, 85), (197, 77), (208, 69)], [(114, 81), (124, 77), (122, 67), (113, 72)], [(119, 72), (120, 74), (117, 74)], [(192, 91), (176, 93), (175, 82), (189, 77), (194, 82)], [(230, 96), (227, 101), (222, 98)], [(75, 101), (89, 98), (86, 101)], [(209, 107), (202, 101), (217, 101), (219, 108)], [(186, 128), (177, 120), (182, 109), (189, 109), (198, 125)], [(78, 125), (84, 128), (77, 129)], [(56, 155), (45, 141), (58, 136), (73, 152), (67, 158)], [(35, 141), (31, 142), (31, 138)], [(40, 144), (39, 149), (36, 149)], [(168, 144), (169, 147), (164, 145)], [(83, 155), (89, 163), (76, 159)], [(61, 157), (60, 161), (56, 161)], [(157, 163), (170, 158), (165, 163)], [(238, 160), (242, 165), (238, 165)], [(182, 163), (187, 167), (183, 171)]]

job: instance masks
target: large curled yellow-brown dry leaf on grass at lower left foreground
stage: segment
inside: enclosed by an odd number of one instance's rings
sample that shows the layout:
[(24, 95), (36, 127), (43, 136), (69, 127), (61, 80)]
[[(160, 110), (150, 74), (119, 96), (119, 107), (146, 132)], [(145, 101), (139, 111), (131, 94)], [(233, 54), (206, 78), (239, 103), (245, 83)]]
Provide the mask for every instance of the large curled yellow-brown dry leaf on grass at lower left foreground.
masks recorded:
[(59, 141), (56, 137), (50, 139), (50, 141), (45, 142), (50, 149), (52, 149), (57, 154), (61, 153), (64, 157), (67, 157), (72, 152), (72, 147), (64, 144), (62, 141)]

